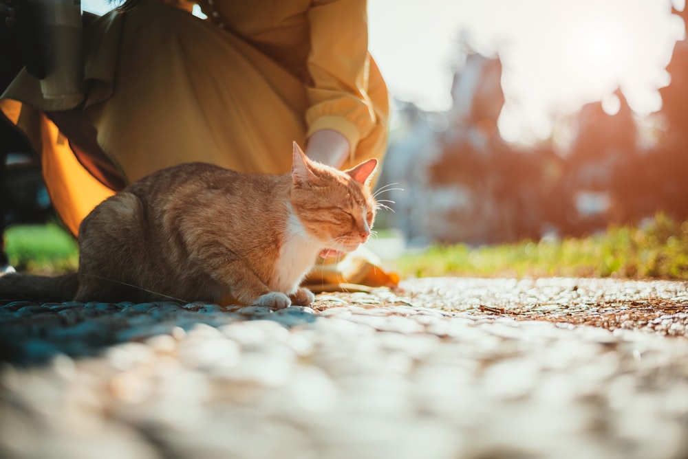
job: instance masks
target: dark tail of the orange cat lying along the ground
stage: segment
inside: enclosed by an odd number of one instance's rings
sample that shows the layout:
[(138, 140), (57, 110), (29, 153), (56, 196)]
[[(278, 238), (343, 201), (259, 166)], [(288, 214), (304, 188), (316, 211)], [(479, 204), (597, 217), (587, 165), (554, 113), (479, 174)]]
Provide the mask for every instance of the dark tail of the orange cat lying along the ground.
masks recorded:
[(63, 302), (76, 295), (76, 273), (47, 277), (12, 273), (0, 277), (0, 302)]

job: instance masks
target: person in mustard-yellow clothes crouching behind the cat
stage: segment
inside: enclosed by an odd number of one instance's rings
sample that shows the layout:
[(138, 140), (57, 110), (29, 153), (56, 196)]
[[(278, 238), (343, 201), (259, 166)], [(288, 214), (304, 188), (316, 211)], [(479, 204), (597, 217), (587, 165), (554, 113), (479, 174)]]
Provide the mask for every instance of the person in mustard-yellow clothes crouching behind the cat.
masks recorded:
[(193, 3), (128, 0), (85, 23), (80, 100), (44, 98), (25, 69), (2, 94), (73, 234), (100, 201), (174, 164), (285, 173), (294, 140), (340, 168), (382, 159), (389, 100), (365, 0), (200, 0), (205, 20)]

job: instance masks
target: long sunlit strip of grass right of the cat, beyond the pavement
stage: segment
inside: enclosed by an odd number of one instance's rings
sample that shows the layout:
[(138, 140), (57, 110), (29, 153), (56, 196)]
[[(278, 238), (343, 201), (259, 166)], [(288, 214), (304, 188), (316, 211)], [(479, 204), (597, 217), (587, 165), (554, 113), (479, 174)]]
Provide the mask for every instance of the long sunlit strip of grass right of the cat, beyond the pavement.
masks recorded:
[(613, 226), (603, 234), (558, 242), (523, 241), (471, 248), (435, 246), (395, 263), (408, 276), (537, 278), (583, 276), (688, 280), (688, 221), (658, 214), (643, 226)]

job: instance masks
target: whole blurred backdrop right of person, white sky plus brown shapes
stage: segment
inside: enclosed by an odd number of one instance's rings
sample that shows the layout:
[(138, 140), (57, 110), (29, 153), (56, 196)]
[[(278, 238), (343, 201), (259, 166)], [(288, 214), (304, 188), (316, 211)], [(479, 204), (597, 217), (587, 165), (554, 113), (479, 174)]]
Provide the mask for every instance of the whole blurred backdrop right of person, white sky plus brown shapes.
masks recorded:
[(684, 7), (371, 1), (396, 98), (380, 183), (404, 190), (387, 225), (484, 244), (686, 219)]

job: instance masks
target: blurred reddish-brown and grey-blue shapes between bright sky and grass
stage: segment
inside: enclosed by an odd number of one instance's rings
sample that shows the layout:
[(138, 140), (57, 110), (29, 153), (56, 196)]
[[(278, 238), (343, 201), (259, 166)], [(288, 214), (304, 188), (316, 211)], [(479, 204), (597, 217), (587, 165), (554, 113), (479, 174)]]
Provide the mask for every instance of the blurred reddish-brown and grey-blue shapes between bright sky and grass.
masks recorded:
[(396, 201), (396, 212), (379, 222), (411, 243), (483, 244), (581, 236), (658, 211), (687, 219), (688, 41), (676, 43), (667, 71), (671, 84), (660, 89), (655, 114), (666, 129), (653, 146), (641, 146), (638, 119), (617, 89), (615, 109), (592, 102), (562, 118), (572, 133), (564, 148), (526, 148), (499, 133), (499, 57), (468, 52), (455, 71), (451, 110), (401, 104), (379, 183), (403, 191), (380, 195)]

